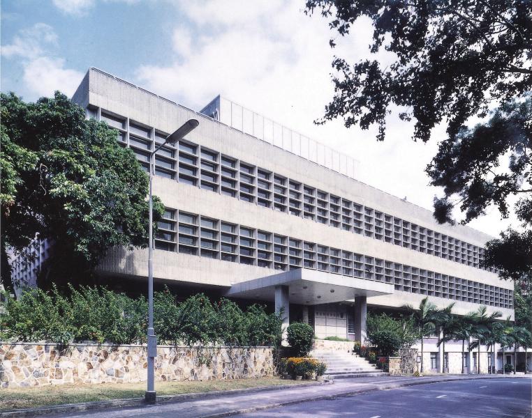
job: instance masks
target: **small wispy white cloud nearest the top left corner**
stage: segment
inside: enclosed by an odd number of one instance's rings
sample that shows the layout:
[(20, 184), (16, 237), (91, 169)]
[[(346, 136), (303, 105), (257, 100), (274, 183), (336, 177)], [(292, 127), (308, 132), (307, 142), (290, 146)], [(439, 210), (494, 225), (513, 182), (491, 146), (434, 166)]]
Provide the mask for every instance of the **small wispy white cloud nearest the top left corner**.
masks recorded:
[(1, 54), (6, 58), (22, 57), (32, 59), (43, 54), (46, 47), (57, 45), (57, 34), (52, 26), (37, 23), (23, 29), (13, 37), (13, 42), (2, 45)]

